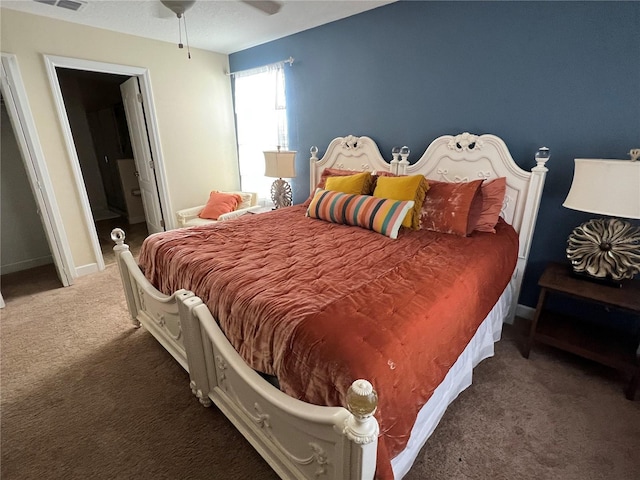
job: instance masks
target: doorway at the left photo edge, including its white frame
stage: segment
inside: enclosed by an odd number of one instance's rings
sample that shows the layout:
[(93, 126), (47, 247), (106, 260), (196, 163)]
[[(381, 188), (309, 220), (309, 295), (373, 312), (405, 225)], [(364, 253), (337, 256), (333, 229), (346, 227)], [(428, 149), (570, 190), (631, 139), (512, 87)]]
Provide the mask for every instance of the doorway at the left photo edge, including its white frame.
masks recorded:
[[(6, 259), (9, 254), (12, 260), (18, 260), (4, 262), (8, 265), (4, 265), (6, 275), (2, 278), (2, 287), (9, 298), (14, 294), (29, 294), (23, 288), (24, 279), (28, 285), (34, 287), (37, 283), (38, 288), (44, 290), (72, 285), (75, 266), (16, 56), (0, 53), (0, 60), (2, 154), (6, 154), (1, 166), (3, 187), (7, 183), (2, 194), (10, 194), (8, 199), (2, 199), (2, 220), (5, 223), (9, 220), (3, 226), (2, 234), (3, 237), (14, 235), (8, 242), (3, 238), (3, 256)], [(23, 201), (15, 202), (16, 198)], [(23, 210), (23, 206), (27, 210)], [(25, 227), (24, 222), (30, 223)], [(43, 232), (48, 249), (42, 242)], [(35, 270), (38, 270), (37, 274)], [(33, 282), (36, 277), (38, 282)], [(4, 303), (3, 294), (0, 294), (0, 307), (4, 307)]]

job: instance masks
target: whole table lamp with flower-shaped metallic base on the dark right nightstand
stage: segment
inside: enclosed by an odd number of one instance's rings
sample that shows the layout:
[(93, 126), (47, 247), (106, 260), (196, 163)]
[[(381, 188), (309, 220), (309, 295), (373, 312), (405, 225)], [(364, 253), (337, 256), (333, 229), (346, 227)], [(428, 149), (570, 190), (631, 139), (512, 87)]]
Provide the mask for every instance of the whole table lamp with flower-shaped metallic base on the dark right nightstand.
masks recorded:
[(620, 219), (640, 219), (640, 162), (576, 158), (562, 205), (615, 217), (589, 220), (571, 232), (566, 252), (576, 274), (622, 286), (640, 272), (640, 228)]

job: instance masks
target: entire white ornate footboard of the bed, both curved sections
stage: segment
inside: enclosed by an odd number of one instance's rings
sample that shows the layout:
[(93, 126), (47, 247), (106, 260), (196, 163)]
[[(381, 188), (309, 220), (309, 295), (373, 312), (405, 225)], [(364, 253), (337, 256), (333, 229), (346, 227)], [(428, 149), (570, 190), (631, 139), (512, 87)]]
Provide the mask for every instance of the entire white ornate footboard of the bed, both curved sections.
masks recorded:
[(351, 387), (349, 407), (357, 414), (289, 397), (246, 365), (199, 297), (156, 290), (124, 243), (124, 232), (115, 229), (111, 236), (134, 325), (142, 324), (178, 360), (200, 402), (213, 401), (280, 477), (373, 479), (377, 397), (369, 382)]

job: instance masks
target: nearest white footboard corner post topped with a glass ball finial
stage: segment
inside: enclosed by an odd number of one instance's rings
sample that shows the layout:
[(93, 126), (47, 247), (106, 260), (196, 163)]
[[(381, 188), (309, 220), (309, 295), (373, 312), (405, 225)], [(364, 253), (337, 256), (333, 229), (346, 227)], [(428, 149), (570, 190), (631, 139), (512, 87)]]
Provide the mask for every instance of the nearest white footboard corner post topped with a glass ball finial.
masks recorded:
[(351, 415), (344, 422), (344, 434), (352, 442), (351, 477), (373, 479), (376, 471), (378, 422), (373, 414), (378, 408), (378, 395), (371, 383), (356, 380), (347, 391), (347, 409)]

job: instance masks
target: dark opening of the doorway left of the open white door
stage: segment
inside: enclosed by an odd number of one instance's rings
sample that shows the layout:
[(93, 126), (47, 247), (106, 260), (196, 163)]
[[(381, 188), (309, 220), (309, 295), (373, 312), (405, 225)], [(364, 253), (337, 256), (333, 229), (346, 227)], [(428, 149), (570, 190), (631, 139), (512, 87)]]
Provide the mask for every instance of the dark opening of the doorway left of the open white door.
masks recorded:
[(69, 68), (56, 68), (56, 74), (102, 258), (109, 265), (115, 262), (111, 230), (125, 230), (134, 255), (149, 234), (120, 91), (135, 77)]

